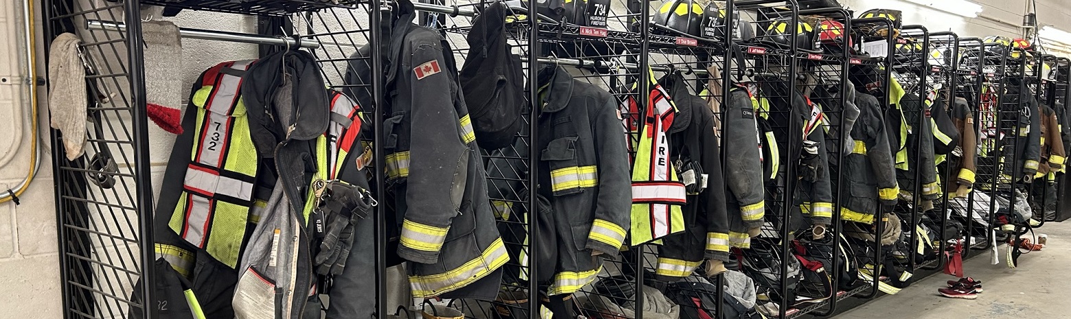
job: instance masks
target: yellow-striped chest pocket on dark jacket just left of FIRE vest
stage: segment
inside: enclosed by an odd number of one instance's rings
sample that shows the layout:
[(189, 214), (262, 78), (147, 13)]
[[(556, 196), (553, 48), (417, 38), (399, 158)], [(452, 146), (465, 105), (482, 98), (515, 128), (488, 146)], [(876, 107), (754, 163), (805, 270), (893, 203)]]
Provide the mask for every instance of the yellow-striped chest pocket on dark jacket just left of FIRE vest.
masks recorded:
[(576, 156), (575, 136), (552, 140), (540, 155), (550, 168), (550, 189), (555, 196), (584, 192), (598, 183), (595, 166), (580, 166)]

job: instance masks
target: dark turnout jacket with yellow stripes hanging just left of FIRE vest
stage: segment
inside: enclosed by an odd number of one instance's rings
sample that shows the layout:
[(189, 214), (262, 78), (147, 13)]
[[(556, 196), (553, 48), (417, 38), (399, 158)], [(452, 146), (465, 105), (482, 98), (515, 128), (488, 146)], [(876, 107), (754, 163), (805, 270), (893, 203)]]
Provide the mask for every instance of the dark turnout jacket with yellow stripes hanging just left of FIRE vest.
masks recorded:
[[(632, 197), (627, 141), (621, 138), (617, 101), (609, 92), (573, 78), (560, 66), (540, 72), (542, 111), (539, 131), (528, 141), (517, 139), (503, 156), (491, 158), (492, 194), (507, 200), (527, 200), (518, 189), (521, 177), (528, 174), (523, 163), (510, 158), (538, 156), (538, 216), (542, 229), (537, 280), (548, 286), (548, 294), (573, 293), (594, 280), (604, 258), (616, 258), (631, 226)], [(527, 128), (522, 134), (527, 135)], [(517, 218), (510, 201), (496, 201), (504, 219)], [(598, 256), (593, 256), (598, 255)], [(519, 264), (532, 262), (521, 254)]]

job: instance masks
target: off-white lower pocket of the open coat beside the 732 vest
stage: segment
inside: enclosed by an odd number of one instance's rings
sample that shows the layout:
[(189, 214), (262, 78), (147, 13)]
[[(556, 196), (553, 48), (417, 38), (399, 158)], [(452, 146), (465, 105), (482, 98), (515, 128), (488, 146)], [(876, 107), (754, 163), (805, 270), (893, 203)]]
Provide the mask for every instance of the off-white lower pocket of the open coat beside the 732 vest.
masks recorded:
[(235, 318), (274, 319), (282, 300), (275, 280), (251, 265), (238, 278), (231, 304), (235, 306)]

